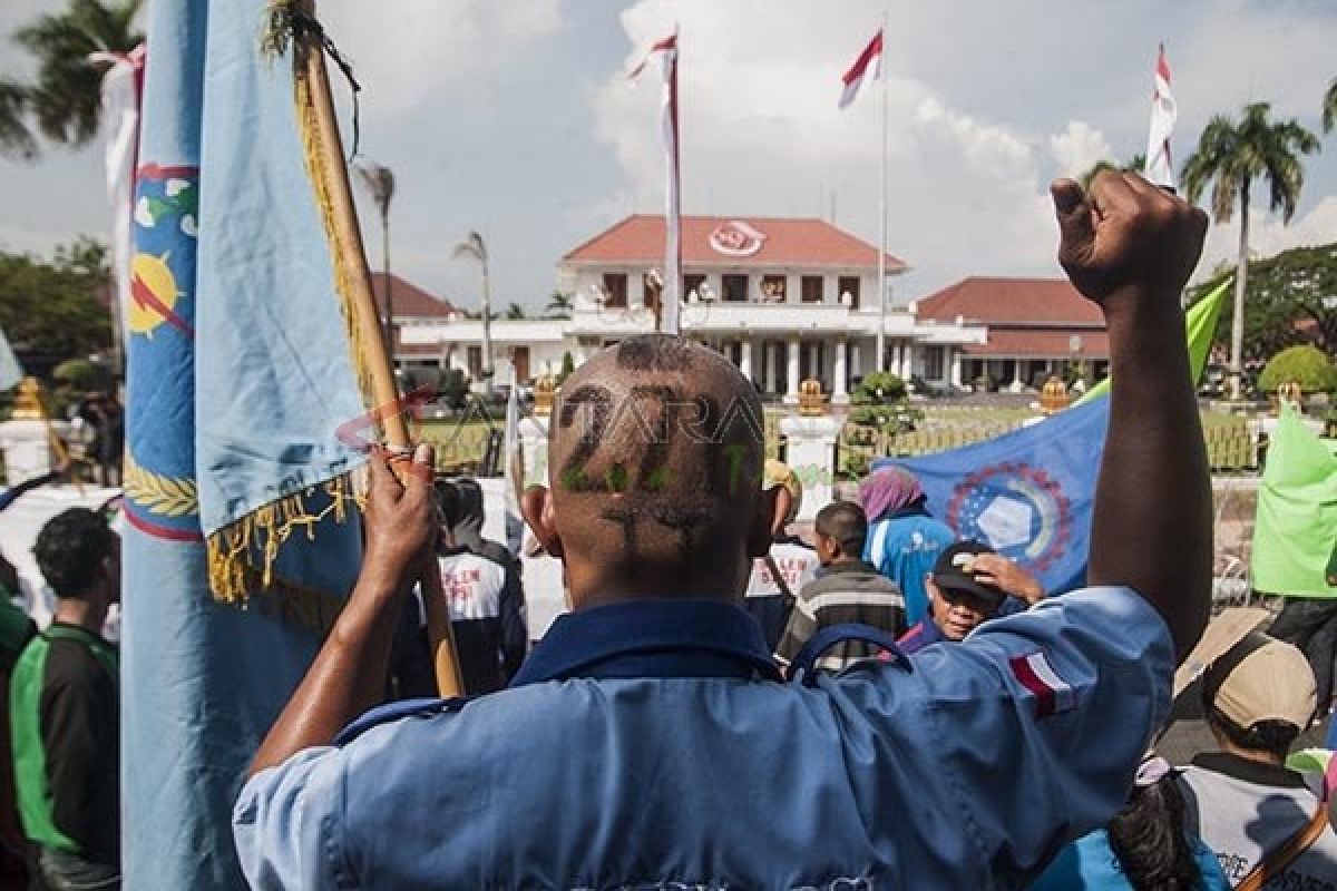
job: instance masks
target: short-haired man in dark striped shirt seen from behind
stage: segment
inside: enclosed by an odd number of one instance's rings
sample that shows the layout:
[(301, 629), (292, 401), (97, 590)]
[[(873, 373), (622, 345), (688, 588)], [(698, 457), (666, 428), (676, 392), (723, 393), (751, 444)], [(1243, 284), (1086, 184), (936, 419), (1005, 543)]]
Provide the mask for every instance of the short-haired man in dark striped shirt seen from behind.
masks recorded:
[[(822, 569), (804, 585), (789, 616), (775, 659), (793, 661), (813, 635), (830, 625), (856, 622), (872, 625), (890, 637), (905, 631), (905, 598), (896, 582), (864, 562), (860, 554), (868, 536), (864, 509), (849, 501), (836, 501), (817, 513), (817, 557)], [(864, 641), (842, 641), (818, 661), (825, 671), (844, 671), (860, 659), (870, 659), (877, 647)]]

